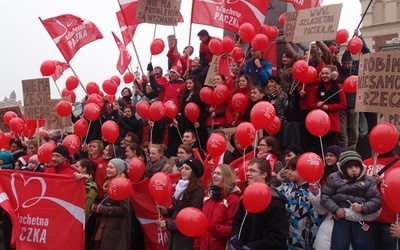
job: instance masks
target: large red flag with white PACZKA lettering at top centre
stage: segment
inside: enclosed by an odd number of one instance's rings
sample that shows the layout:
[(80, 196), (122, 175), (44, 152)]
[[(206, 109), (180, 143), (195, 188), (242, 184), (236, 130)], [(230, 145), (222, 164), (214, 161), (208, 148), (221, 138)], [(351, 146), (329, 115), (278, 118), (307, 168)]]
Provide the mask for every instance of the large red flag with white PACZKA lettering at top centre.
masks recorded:
[(192, 23), (205, 24), (236, 32), (245, 22), (256, 30), (264, 23), (270, 0), (241, 1), (194, 0)]

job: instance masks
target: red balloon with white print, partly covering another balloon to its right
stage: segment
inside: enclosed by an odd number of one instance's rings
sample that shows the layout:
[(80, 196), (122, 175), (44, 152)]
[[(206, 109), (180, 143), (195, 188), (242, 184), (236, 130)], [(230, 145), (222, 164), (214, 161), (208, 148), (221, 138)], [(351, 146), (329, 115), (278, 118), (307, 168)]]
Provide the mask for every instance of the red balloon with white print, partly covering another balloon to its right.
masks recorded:
[(274, 117), (275, 108), (267, 101), (258, 102), (250, 111), (250, 121), (255, 129), (265, 128)]

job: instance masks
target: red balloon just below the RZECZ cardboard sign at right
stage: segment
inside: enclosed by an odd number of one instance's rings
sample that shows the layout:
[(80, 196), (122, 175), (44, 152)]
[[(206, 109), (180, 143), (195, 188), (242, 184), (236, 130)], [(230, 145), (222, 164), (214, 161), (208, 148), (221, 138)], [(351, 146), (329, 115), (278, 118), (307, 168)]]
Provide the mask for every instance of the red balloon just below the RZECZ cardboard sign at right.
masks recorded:
[(382, 122), (372, 128), (369, 144), (377, 154), (384, 154), (396, 147), (398, 138), (396, 127), (388, 122)]

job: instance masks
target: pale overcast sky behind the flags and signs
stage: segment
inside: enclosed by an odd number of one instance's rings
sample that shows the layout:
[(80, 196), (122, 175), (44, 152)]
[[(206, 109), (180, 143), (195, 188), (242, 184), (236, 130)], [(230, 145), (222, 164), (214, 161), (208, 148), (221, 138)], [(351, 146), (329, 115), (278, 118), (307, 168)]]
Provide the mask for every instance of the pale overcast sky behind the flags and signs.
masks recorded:
[[(358, 0), (325, 0), (323, 5), (334, 3), (343, 3), (339, 29), (345, 28), (352, 33), (360, 20), (360, 2)], [(2, 10), (0, 15), (2, 37), (0, 39), (0, 101), (4, 97), (8, 97), (13, 90), (17, 94), (17, 100), (22, 100), (21, 80), (42, 77), (40, 65), (43, 61), (65, 61), (38, 17), (47, 19), (62, 14), (73, 14), (92, 21), (102, 32), (103, 39), (82, 47), (70, 61), (70, 65), (84, 85), (90, 81), (95, 81), (101, 87), (104, 80), (113, 75), (119, 75), (115, 66), (119, 51), (111, 35), (111, 31), (114, 31), (121, 37), (115, 15), (115, 12), (119, 10), (117, 0), (0, 1), (0, 9)], [(175, 28), (179, 51), (188, 44), (190, 10), (191, 1), (182, 0), (181, 13), (185, 22), (179, 23)], [(152, 24), (141, 24), (134, 37), (143, 70), (146, 70), (147, 63), (150, 60), (149, 50), (150, 43), (153, 40), (154, 27)], [(191, 45), (195, 48), (193, 56), (198, 56), (199, 40), (196, 34), (203, 28), (207, 29), (212, 36), (222, 38), (221, 29), (194, 24), (191, 36)], [(158, 25), (156, 38), (163, 39), (167, 44), (167, 36), (173, 33), (171, 26)], [(127, 48), (133, 57), (132, 66), (136, 68), (138, 60), (134, 54), (133, 46), (129, 44)], [(161, 65), (166, 69), (166, 53), (167, 49), (162, 54), (153, 56), (153, 64)], [(65, 80), (71, 75), (73, 73), (68, 69), (57, 81), (60, 90), (65, 87)], [(51, 78), (50, 82), (51, 97), (53, 99), (59, 98), (60, 95)], [(122, 82), (119, 86), (117, 97), (123, 87), (125, 86)], [(80, 100), (84, 95), (81, 87), (78, 87), (75, 92), (77, 100)]]

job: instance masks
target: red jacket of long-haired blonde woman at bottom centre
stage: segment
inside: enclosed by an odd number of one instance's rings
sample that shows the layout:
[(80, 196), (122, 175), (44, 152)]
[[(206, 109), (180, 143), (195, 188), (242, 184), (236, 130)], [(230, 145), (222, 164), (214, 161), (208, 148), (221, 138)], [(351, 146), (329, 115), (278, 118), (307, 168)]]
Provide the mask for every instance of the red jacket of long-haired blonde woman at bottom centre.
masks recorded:
[(239, 207), (239, 196), (229, 194), (227, 198), (218, 201), (209, 197), (203, 203), (203, 213), (207, 216), (210, 225), (215, 228), (196, 238), (194, 249), (225, 250), (226, 242), (231, 237), (233, 217)]

